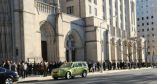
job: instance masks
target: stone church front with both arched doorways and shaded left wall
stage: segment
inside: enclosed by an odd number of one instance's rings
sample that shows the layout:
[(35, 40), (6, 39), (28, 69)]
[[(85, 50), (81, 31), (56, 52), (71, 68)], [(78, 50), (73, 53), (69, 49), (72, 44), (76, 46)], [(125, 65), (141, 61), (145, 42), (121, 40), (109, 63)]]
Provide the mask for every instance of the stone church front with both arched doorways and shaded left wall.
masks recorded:
[[(7, 48), (1, 48), (3, 49), (1, 60), (29, 62), (85, 60), (83, 19), (57, 13), (56, 6), (40, 1), (2, 0), (0, 8), (4, 13), (7, 9), (8, 13), (3, 14), (5, 18), (1, 18), (1, 22), (5, 21), (7, 25), (1, 23), (1, 32), (8, 34), (1, 35), (2, 38), (6, 38), (4, 45), (1, 46)], [(6, 21), (7, 18), (10, 19), (9, 22)], [(5, 28), (7, 29), (4, 31)]]

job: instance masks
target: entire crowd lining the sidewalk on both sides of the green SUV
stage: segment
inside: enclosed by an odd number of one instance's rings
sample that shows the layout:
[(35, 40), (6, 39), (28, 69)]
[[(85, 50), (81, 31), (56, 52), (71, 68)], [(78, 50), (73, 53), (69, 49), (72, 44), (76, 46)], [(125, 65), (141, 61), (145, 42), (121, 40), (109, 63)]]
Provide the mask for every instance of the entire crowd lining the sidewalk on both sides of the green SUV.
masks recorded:
[[(20, 77), (27, 77), (30, 75), (43, 75), (47, 76), (51, 74), (52, 69), (60, 67), (64, 62), (46, 62), (42, 61), (40, 63), (28, 63), (28, 62), (12, 62), (12, 61), (4, 61), (0, 66), (4, 67), (8, 70), (12, 70), (18, 72)], [(89, 67), (89, 72), (100, 71), (103, 66), (103, 70), (116, 70), (116, 69), (131, 69), (131, 68), (141, 68), (141, 67), (150, 67), (151, 63), (134, 63), (134, 62), (110, 62), (105, 61), (103, 63), (100, 62), (87, 62)]]

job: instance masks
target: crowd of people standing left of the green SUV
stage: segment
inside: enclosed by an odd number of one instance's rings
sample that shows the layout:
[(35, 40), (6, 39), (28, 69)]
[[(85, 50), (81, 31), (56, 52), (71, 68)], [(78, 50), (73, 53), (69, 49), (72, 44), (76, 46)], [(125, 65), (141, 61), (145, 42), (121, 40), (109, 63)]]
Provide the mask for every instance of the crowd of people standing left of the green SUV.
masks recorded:
[(46, 61), (40, 63), (28, 63), (22, 61), (17, 64), (12, 61), (5, 61), (1, 64), (1, 67), (18, 72), (20, 77), (25, 78), (30, 75), (47, 76), (48, 74), (51, 74), (52, 69), (58, 68), (62, 64), (62, 62), (49, 63)]

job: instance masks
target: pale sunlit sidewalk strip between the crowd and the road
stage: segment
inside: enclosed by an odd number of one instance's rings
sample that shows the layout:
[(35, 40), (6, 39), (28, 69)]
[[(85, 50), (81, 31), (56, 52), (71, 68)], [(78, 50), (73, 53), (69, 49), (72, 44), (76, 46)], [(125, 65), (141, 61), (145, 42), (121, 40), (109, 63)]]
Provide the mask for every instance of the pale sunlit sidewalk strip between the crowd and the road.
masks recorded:
[[(131, 70), (142, 70), (142, 69), (151, 69), (149, 68), (140, 68), (140, 69), (125, 69), (125, 70), (110, 70), (110, 71), (103, 71), (103, 73), (101, 72), (90, 72), (88, 73), (88, 76), (101, 76), (101, 75), (105, 75), (105, 74), (109, 74), (109, 73), (117, 73), (117, 72), (125, 72), (125, 71), (131, 71)], [(46, 80), (53, 80), (53, 78), (51, 76), (47, 76), (47, 77), (43, 77), (43, 76), (30, 76), (27, 78), (20, 78), (18, 83), (22, 83), (22, 82), (36, 82), (36, 81), (46, 81)]]

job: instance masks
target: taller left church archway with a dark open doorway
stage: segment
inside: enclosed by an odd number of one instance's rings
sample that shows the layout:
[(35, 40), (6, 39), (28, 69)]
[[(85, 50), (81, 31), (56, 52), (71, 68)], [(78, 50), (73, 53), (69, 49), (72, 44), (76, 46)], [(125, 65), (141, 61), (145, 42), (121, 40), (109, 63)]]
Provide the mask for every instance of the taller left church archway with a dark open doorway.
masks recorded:
[(41, 53), (43, 61), (55, 61), (56, 58), (56, 43), (55, 31), (52, 25), (45, 21), (40, 26), (41, 32)]

